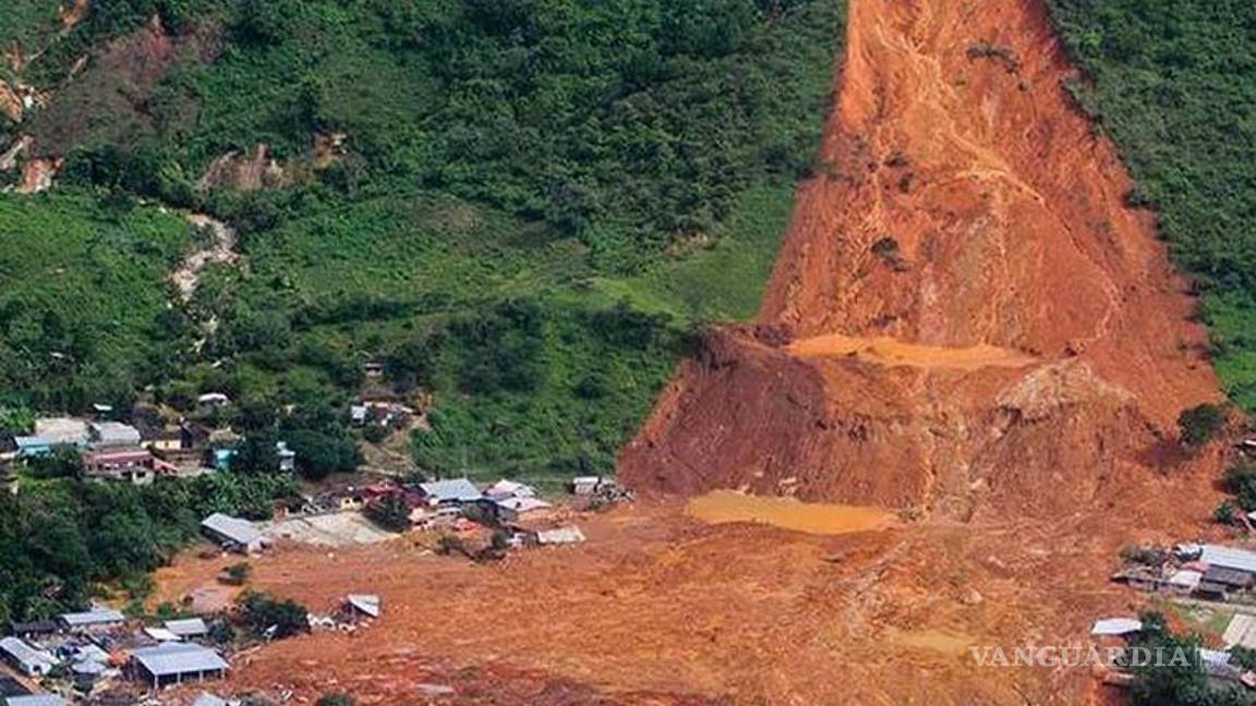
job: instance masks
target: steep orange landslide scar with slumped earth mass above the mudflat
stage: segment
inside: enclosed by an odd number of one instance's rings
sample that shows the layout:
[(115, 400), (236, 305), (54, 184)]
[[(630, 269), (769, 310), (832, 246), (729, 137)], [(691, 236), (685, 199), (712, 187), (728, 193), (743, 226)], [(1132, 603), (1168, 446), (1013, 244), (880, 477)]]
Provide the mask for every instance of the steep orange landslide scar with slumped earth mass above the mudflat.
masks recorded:
[(1050, 516), (1163, 464), (1217, 384), (1071, 75), (1037, 1), (852, 0), (759, 322), (682, 366), (623, 479)]

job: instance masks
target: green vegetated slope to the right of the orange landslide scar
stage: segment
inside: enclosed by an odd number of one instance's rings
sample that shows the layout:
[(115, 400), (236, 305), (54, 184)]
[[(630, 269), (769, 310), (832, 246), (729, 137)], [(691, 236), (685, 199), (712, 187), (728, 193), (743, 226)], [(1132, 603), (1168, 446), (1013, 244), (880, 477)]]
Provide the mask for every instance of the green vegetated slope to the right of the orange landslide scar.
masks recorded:
[(1093, 82), (1069, 88), (1110, 132), (1134, 206), (1203, 291), (1213, 363), (1256, 410), (1256, 5), (1243, 0), (1050, 0)]

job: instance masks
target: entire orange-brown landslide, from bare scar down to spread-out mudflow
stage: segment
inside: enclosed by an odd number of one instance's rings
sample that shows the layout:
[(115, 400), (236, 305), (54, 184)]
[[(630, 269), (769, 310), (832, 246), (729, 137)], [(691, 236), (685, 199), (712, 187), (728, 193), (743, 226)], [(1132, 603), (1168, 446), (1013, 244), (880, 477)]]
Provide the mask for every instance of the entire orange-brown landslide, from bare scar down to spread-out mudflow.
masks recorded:
[[(1081, 667), (971, 646), (1085, 643), (1139, 598), (1132, 543), (1199, 538), (1217, 448), (1174, 418), (1220, 397), (1193, 301), (1070, 104), (1037, 0), (852, 0), (819, 176), (760, 320), (713, 333), (624, 450), (647, 499), (580, 546), (494, 565), (413, 539), (286, 548), (259, 588), (354, 634), (237, 657), (226, 691), (363, 703), (1102, 703)], [(840, 535), (703, 524), (713, 489), (875, 506)], [(203, 565), (202, 565), (203, 564)], [(220, 567), (188, 559), (163, 590)], [(441, 691), (447, 693), (435, 693)]]

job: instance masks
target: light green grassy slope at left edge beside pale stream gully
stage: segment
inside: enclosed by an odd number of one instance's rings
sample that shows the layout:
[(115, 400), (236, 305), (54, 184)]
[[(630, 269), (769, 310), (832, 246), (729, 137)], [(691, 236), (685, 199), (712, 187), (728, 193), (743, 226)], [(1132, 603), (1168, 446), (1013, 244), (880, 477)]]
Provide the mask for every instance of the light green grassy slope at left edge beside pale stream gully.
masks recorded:
[(191, 347), (166, 289), (188, 225), (112, 201), (0, 195), (0, 389), (30, 406), (124, 405)]

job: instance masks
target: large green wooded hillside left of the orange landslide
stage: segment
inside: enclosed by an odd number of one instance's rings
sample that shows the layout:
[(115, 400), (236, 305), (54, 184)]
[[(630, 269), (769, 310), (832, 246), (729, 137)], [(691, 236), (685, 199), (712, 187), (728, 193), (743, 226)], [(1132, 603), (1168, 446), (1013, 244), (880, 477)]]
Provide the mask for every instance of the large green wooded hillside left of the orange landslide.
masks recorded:
[[(382, 361), (398, 392), (433, 393), (423, 470), (531, 476), (612, 471), (691, 327), (757, 307), (840, 30), (818, 0), (79, 10), (0, 10), (0, 78), (34, 97), (0, 119), (0, 151), (21, 147), (0, 180), (55, 173), (0, 196), (5, 236), (95, 200), (172, 224), (172, 268), (196, 247), (173, 216), (198, 211), (239, 230), (239, 266), (207, 268), (187, 307), (129, 298), (111, 338), (152, 343), (160, 318), (171, 349), (111, 350), (126, 382), (84, 358), (36, 386), (10, 358), (0, 388), (48, 410), (153, 386), (176, 407), (335, 411)], [(48, 281), (21, 281), (38, 318)]]

